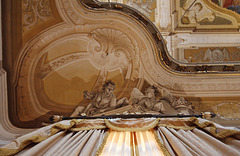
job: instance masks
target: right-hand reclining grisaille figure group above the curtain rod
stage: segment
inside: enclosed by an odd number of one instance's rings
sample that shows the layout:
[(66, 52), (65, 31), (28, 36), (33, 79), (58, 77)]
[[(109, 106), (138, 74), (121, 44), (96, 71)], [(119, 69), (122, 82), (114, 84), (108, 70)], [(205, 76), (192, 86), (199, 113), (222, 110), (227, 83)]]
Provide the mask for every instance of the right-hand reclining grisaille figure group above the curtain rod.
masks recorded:
[(134, 107), (132, 112), (188, 115), (191, 112), (190, 105), (184, 98), (176, 99), (168, 91), (164, 90), (162, 97), (157, 96), (159, 91), (156, 86), (149, 86), (145, 94), (134, 88), (131, 94), (131, 102)]

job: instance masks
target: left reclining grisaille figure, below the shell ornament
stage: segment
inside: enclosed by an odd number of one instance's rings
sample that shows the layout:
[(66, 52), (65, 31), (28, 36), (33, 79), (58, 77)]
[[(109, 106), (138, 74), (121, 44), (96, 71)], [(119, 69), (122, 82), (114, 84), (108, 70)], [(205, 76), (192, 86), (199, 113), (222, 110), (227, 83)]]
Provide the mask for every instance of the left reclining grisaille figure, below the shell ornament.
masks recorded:
[(117, 100), (113, 93), (114, 89), (115, 83), (112, 81), (107, 81), (102, 86), (102, 90), (97, 93), (89, 93), (88, 91), (84, 91), (84, 98), (91, 100), (91, 102), (87, 105), (87, 107), (76, 107), (74, 112), (71, 114), (71, 117), (76, 117), (81, 114), (91, 116), (127, 105), (127, 98)]

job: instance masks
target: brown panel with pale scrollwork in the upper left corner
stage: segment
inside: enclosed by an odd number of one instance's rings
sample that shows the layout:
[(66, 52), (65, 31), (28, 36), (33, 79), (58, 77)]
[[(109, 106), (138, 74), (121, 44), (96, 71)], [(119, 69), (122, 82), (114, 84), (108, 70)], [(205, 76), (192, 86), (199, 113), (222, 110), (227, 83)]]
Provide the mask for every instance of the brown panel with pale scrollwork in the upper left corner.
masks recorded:
[(52, 16), (49, 0), (24, 0), (22, 3), (24, 30), (30, 30), (40, 21)]

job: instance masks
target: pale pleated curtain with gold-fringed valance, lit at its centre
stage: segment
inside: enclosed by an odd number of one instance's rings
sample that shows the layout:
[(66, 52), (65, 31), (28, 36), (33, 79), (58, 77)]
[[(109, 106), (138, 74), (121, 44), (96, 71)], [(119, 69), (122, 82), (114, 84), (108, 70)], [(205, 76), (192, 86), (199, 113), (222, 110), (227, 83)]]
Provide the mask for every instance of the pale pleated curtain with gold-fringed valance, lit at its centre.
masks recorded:
[(0, 155), (14, 154), (235, 156), (240, 155), (240, 131), (197, 118), (73, 119), (0, 148)]

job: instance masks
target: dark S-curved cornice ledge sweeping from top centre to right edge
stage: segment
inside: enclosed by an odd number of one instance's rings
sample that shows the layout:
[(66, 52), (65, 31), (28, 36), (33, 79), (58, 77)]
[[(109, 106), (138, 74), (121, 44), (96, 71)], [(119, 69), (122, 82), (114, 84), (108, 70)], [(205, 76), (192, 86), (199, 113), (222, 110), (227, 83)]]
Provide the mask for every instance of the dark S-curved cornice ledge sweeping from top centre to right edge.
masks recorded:
[[(224, 65), (218, 64), (206, 64), (206, 63), (199, 63), (199, 64), (184, 64), (177, 62), (174, 60), (167, 52), (167, 48), (164, 42), (164, 39), (155, 25), (142, 13), (138, 12), (137, 10), (130, 8), (124, 4), (116, 4), (111, 3), (95, 3), (92, 0), (80, 1), (83, 7), (86, 9), (90, 9), (92, 11), (102, 11), (102, 9), (106, 9), (107, 11), (118, 11), (120, 13), (127, 14), (130, 17), (133, 17), (139, 25), (141, 25), (152, 38), (153, 43), (157, 49), (157, 57), (159, 64), (168, 70), (169, 72), (176, 74), (176, 75), (189, 75), (189, 74), (224, 74), (228, 73), (228, 71), (224, 70)], [(95, 5), (94, 5), (95, 4)], [(116, 7), (116, 5), (121, 7)], [(97, 7), (96, 7), (97, 6)], [(100, 9), (99, 9), (100, 8)], [(185, 66), (184, 71), (178, 68), (179, 66)], [(202, 68), (202, 66), (208, 66), (208, 68)], [(234, 69), (236, 69), (232, 74), (239, 74), (240, 65), (234, 64)]]

